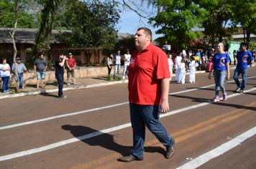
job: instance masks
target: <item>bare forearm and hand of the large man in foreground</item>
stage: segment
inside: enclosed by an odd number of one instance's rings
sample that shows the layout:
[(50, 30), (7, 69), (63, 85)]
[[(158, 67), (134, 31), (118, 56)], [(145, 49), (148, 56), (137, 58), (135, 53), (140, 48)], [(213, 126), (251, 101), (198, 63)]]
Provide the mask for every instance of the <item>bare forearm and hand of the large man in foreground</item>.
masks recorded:
[(160, 105), (161, 113), (169, 112), (169, 102), (168, 102), (169, 85), (170, 85), (169, 78), (165, 78), (161, 80), (161, 88), (162, 88), (162, 102)]

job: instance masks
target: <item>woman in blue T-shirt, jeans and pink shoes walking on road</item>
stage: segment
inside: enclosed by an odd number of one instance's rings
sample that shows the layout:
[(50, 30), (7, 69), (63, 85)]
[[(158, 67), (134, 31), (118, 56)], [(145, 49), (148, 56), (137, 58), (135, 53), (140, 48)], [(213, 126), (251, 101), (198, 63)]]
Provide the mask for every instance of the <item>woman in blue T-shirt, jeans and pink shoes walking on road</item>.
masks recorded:
[(211, 79), (211, 72), (214, 69), (214, 81), (215, 81), (215, 97), (212, 102), (219, 102), (219, 87), (221, 87), (223, 93), (223, 100), (227, 100), (227, 92), (224, 87), (224, 79), (229, 79), (229, 54), (224, 52), (224, 44), (217, 44), (217, 53), (211, 59), (212, 65), (209, 72), (209, 79)]

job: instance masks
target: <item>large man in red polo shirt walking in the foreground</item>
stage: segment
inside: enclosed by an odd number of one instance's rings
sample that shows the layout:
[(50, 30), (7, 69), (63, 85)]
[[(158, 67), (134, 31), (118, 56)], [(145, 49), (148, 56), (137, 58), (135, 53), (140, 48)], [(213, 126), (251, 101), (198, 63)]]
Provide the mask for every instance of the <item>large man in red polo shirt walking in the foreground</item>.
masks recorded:
[(132, 53), (129, 71), (129, 107), (133, 129), (131, 154), (122, 162), (143, 160), (145, 125), (165, 145), (165, 158), (174, 154), (174, 140), (159, 121), (160, 113), (169, 111), (169, 66), (165, 52), (152, 44), (152, 32), (145, 27), (135, 34), (137, 50)]

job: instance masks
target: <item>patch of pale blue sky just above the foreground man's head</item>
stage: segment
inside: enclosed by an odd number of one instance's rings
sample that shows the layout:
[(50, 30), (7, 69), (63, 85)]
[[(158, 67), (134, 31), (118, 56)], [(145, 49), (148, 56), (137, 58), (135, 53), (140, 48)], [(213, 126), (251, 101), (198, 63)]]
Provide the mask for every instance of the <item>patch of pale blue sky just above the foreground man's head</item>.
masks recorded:
[(161, 37), (160, 34), (155, 34), (157, 28), (153, 28), (150, 24), (147, 24), (146, 19), (142, 19), (140, 21), (140, 16), (138, 16), (134, 11), (125, 10), (120, 14), (120, 20), (117, 27), (119, 28), (119, 33), (128, 33), (135, 34), (137, 29), (145, 26), (152, 31), (152, 39), (157, 39), (157, 37)]

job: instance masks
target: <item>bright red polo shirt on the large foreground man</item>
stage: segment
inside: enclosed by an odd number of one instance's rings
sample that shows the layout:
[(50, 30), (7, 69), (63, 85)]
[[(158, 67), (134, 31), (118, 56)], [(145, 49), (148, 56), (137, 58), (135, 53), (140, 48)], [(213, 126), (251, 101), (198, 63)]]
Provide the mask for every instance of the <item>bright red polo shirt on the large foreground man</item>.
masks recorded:
[(160, 105), (161, 79), (170, 78), (165, 52), (152, 42), (140, 53), (135, 50), (128, 71), (129, 101), (137, 105)]

